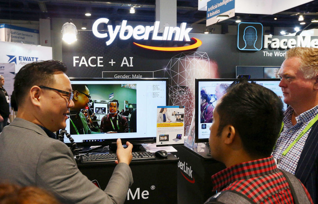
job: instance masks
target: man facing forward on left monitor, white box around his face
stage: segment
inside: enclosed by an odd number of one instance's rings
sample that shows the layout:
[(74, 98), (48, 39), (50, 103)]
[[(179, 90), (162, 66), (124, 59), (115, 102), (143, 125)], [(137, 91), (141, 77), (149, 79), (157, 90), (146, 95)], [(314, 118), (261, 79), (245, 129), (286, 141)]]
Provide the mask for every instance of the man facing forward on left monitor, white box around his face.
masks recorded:
[(119, 102), (113, 100), (109, 103), (109, 113), (100, 121), (100, 132), (102, 133), (127, 133), (128, 121), (123, 115), (117, 114)]

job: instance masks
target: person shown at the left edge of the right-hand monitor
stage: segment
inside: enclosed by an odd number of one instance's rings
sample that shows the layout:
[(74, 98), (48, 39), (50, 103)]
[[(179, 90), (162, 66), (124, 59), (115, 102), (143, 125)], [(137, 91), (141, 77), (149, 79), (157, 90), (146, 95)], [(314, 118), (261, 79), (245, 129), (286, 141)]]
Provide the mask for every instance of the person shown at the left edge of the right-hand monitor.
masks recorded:
[(201, 123), (212, 122), (213, 106), (210, 104), (211, 96), (205, 90), (201, 90)]

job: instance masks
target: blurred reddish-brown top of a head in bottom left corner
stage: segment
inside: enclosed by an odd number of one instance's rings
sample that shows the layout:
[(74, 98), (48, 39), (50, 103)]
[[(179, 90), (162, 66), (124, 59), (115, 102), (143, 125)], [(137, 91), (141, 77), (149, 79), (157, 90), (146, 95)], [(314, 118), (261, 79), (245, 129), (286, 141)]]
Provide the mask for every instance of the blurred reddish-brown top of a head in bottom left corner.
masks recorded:
[(1, 204), (61, 204), (51, 193), (35, 186), (0, 184)]

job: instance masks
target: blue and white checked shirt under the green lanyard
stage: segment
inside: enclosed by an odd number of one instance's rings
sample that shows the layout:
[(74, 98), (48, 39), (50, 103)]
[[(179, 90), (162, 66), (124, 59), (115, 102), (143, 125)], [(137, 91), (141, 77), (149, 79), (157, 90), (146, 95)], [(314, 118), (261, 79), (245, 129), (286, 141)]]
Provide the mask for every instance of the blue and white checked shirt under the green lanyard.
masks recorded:
[[(308, 123), (318, 114), (318, 106), (307, 110), (306, 112), (298, 115), (296, 117), (296, 124), (293, 126), (292, 118), (293, 109), (288, 107), (284, 113), (284, 127), (280, 133), (274, 151), (272, 155), (275, 160), (278, 160), (282, 153), (287, 149), (287, 147), (297, 138), (303, 129), (308, 125)], [(294, 146), (287, 152), (287, 154), (281, 159), (277, 164), (277, 168), (288, 171), (295, 175), (297, 164), (304, 148), (305, 142), (309, 135), (311, 128), (294, 144)]]

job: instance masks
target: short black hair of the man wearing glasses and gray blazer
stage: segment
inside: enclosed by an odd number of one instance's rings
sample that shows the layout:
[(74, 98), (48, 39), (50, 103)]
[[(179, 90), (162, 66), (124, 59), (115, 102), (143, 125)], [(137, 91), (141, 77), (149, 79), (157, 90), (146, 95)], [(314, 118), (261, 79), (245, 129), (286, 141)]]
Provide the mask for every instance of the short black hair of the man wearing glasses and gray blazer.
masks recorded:
[(24, 65), (14, 77), (17, 104), (23, 102), (32, 86), (50, 86), (55, 83), (53, 75), (67, 70), (64, 63), (56, 60), (37, 61)]

